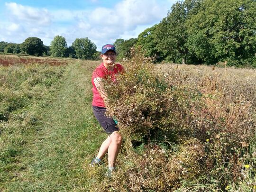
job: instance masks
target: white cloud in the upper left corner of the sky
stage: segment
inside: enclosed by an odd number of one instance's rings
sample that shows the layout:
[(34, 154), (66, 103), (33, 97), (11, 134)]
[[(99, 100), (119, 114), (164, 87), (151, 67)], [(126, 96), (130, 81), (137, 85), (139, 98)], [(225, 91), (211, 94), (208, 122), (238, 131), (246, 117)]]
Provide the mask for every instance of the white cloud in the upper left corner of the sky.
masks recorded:
[(20, 20), (30, 25), (49, 25), (51, 23), (51, 15), (47, 9), (32, 8), (13, 2), (5, 3), (5, 5), (12, 20)]

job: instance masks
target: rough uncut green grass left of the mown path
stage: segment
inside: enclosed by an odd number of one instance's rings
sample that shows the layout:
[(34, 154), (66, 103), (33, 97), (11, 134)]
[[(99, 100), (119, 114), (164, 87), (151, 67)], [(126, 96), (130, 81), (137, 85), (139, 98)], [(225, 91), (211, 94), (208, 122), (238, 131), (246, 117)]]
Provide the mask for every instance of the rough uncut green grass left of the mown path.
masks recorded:
[(42, 109), (50, 104), (63, 71), (64, 65), (0, 65), (0, 183), (13, 175), (8, 170), (22, 169), (16, 156), (22, 154), (26, 137), (40, 129)]

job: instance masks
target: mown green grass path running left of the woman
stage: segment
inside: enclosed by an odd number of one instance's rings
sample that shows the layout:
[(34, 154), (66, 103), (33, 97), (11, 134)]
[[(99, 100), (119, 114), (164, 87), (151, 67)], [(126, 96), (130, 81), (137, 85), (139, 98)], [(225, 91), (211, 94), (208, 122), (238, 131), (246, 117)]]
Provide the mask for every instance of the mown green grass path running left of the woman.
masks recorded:
[(91, 110), (91, 72), (98, 62), (66, 67), (50, 105), (40, 111), (40, 129), (26, 137), (13, 178), (3, 191), (88, 191), (91, 157), (105, 138)]

